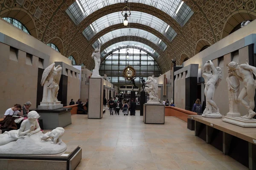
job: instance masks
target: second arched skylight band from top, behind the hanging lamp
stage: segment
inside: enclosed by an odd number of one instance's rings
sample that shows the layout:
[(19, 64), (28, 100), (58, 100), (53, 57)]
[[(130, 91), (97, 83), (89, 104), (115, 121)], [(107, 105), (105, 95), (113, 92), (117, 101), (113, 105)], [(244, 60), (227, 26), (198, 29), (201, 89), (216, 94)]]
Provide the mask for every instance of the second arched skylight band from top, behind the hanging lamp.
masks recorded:
[[(120, 12), (105, 15), (104, 17), (94, 21), (90, 26), (87, 26), (87, 28), (84, 29), (83, 34), (87, 40), (90, 40), (94, 35), (99, 33), (99, 31), (110, 26), (123, 23), (123, 20), (124, 17)], [(171, 27), (166, 31), (168, 24), (163, 20), (144, 12), (131, 11), (131, 16), (128, 17), (128, 21), (129, 23), (139, 23), (154, 28), (170, 41), (173, 39), (173, 35), (175, 34), (175, 31)]]

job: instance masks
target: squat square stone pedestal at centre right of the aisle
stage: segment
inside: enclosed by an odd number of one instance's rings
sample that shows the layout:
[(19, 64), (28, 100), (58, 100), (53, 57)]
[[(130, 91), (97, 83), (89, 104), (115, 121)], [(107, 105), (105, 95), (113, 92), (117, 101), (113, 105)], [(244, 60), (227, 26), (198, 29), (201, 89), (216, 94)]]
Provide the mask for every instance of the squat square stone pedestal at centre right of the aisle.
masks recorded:
[(165, 105), (147, 104), (143, 105), (143, 121), (149, 124), (164, 124)]

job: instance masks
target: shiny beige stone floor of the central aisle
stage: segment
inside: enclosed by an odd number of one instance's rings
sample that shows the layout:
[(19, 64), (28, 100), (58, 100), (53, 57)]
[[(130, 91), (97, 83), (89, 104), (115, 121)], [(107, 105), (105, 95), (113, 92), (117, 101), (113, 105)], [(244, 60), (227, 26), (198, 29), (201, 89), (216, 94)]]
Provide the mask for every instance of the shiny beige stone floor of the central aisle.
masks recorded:
[(72, 115), (62, 139), (68, 147), (82, 148), (76, 170), (247, 170), (195, 137), (186, 122), (165, 120), (150, 125), (142, 116)]

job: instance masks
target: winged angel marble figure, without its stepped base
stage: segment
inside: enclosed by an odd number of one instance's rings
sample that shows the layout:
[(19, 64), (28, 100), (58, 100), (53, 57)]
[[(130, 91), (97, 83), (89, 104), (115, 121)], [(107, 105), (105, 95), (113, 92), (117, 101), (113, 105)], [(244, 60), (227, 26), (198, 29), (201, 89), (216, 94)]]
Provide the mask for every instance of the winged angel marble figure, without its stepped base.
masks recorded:
[(41, 85), (44, 86), (42, 102), (58, 102), (57, 96), (61, 71), (61, 65), (55, 67), (55, 63), (52, 63), (44, 70), (41, 79)]

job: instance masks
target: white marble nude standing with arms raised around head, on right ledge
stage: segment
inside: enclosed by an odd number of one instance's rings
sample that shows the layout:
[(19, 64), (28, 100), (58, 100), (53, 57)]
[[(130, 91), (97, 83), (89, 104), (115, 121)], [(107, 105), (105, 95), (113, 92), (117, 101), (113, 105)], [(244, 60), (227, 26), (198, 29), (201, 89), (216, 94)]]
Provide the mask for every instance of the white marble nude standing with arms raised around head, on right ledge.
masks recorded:
[[(209, 65), (212, 69), (212, 76), (209, 74)], [(211, 60), (207, 61), (207, 65), (205, 65), (206, 71), (208, 71), (209, 76), (207, 76), (207, 82), (205, 83), (204, 88), (204, 95), (206, 97), (206, 108), (204, 110), (204, 113), (202, 116), (209, 117), (209, 118), (222, 118), (222, 115), (220, 114), (219, 108), (217, 107), (216, 103), (213, 101), (213, 96), (215, 93), (216, 88), (218, 88), (218, 84), (221, 81), (221, 68), (214, 67)], [(206, 72), (205, 72), (206, 73)], [(205, 74), (204, 73), (204, 74)]]

